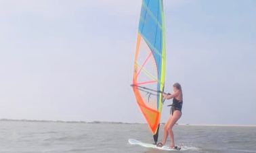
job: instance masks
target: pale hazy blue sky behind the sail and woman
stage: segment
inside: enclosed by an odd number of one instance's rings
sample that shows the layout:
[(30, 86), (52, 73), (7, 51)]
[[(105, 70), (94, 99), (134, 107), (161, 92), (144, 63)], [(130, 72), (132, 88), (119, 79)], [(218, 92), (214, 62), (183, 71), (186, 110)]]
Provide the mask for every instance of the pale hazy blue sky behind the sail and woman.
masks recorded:
[[(179, 123), (256, 125), (256, 1), (163, 2)], [(145, 123), (129, 86), (141, 5), (0, 1), (0, 118)]]

